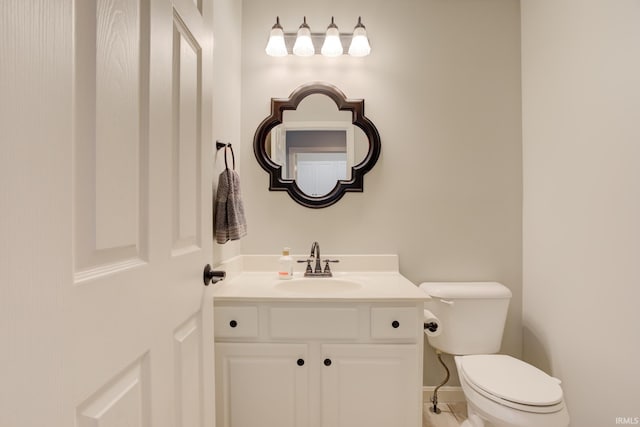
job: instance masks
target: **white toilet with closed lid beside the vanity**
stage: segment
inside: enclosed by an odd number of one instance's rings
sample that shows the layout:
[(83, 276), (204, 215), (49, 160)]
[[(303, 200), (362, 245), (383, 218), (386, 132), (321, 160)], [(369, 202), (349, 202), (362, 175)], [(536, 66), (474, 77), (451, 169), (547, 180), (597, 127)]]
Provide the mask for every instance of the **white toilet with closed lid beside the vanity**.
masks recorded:
[(511, 291), (496, 282), (423, 283), (438, 318), (436, 350), (454, 355), (467, 400), (463, 427), (566, 427), (560, 381), (500, 350)]

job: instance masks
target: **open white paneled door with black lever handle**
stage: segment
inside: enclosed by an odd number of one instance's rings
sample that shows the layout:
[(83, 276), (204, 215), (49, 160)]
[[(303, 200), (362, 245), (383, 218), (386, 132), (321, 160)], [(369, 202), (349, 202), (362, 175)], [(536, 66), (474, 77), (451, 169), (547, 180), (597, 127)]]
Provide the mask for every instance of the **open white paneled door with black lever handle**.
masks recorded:
[(0, 3), (1, 426), (214, 425), (212, 4)]

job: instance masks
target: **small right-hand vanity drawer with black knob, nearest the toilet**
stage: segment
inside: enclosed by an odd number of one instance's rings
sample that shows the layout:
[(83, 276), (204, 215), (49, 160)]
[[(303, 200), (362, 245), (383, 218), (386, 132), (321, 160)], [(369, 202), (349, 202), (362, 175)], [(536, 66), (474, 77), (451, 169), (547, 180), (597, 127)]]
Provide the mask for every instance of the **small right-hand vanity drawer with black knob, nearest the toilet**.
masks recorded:
[(374, 307), (371, 309), (371, 338), (415, 340), (418, 328), (415, 308)]

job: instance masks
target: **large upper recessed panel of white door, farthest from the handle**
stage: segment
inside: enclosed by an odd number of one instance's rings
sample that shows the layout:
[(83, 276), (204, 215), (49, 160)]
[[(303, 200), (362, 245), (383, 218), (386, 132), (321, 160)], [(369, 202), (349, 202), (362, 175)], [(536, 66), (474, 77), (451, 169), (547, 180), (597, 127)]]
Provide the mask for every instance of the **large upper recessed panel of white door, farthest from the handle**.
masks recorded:
[(75, 3), (77, 283), (147, 258), (148, 21), (146, 1)]

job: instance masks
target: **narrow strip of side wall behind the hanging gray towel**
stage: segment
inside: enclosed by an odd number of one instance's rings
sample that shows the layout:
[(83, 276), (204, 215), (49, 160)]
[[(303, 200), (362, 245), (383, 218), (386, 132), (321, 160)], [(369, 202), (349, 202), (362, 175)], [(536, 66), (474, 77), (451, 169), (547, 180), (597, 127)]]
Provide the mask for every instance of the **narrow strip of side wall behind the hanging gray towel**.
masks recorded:
[[(240, 151), (240, 78), (242, 40), (242, 2), (214, 0), (213, 2), (213, 137), (231, 142), (236, 156), (236, 170), (241, 171)], [(224, 170), (224, 150), (214, 153), (213, 188), (218, 187), (218, 175)], [(231, 167), (231, 153), (228, 153)], [(213, 193), (215, 197), (215, 191)], [(214, 265), (240, 254), (240, 241), (213, 245)]]

